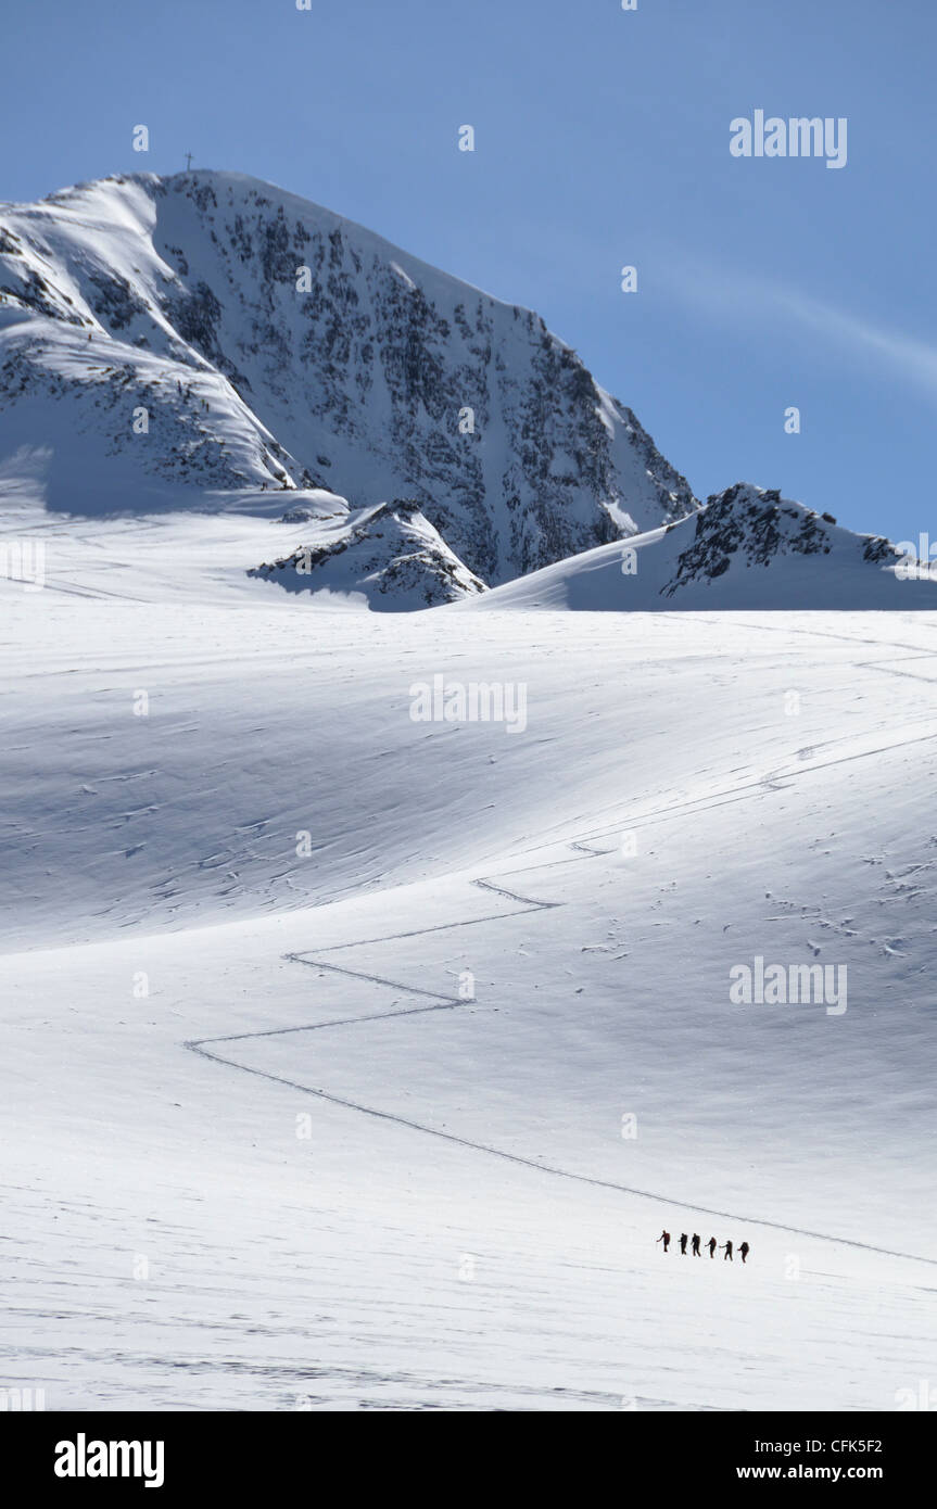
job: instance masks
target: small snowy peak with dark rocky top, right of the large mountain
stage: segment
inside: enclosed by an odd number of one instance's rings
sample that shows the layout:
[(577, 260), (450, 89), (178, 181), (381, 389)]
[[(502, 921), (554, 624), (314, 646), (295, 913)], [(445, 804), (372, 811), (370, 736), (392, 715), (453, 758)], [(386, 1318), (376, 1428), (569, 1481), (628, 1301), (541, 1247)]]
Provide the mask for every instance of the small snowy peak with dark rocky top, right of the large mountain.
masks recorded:
[(881, 536), (853, 534), (830, 515), (738, 483), (691, 518), (508, 582), (484, 607), (934, 611), (937, 578), (910, 576), (904, 560)]

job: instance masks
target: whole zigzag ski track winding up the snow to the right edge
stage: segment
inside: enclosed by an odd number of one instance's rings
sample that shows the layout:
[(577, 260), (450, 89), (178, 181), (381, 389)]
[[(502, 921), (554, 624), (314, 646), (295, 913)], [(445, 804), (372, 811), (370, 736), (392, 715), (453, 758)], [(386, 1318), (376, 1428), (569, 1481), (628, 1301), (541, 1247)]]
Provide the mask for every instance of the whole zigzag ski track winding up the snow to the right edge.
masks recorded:
[[(872, 662), (872, 664), (877, 664), (877, 662)], [(881, 665), (880, 668), (887, 670), (889, 667)], [(880, 745), (880, 747), (871, 748), (871, 750), (860, 750), (860, 751), (854, 751), (854, 753), (848, 753), (848, 754), (843, 753), (843, 754), (839, 754), (839, 756), (836, 756), (833, 759), (819, 761), (819, 762), (816, 762), (813, 765), (803, 765), (798, 770), (771, 771), (766, 776), (757, 777), (756, 780), (742, 782), (742, 783), (739, 783), (735, 788), (727, 788), (726, 791), (715, 792), (712, 798), (697, 798), (697, 800), (690, 800), (690, 801), (682, 801), (682, 803), (673, 803), (673, 804), (667, 804), (665, 807), (658, 809), (656, 812), (643, 813), (641, 816), (635, 818), (629, 825), (631, 827), (640, 827), (640, 825), (643, 825), (646, 822), (653, 822), (655, 819), (665, 819), (667, 816), (673, 816), (677, 812), (685, 812), (688, 807), (696, 809), (696, 810), (706, 810), (706, 809), (711, 809), (711, 807), (724, 806), (724, 804), (727, 804), (730, 801), (744, 801), (744, 800), (747, 800), (747, 798), (750, 798), (753, 795), (763, 794), (765, 791), (783, 791), (785, 788), (777, 785), (779, 780), (792, 780), (792, 779), (797, 779), (797, 777), (801, 777), (801, 776), (809, 776), (809, 774), (812, 774), (813, 771), (818, 771), (818, 770), (827, 770), (827, 768), (834, 767), (834, 765), (843, 765), (843, 764), (848, 764), (848, 762), (853, 762), (853, 761), (868, 759), (869, 756), (880, 754), (884, 750), (892, 750), (892, 748), (898, 748), (898, 747), (907, 747), (907, 745), (920, 744), (920, 742), (932, 742), (935, 738), (937, 738), (937, 733), (925, 733), (925, 735), (920, 735), (917, 738), (899, 739), (899, 741), (896, 741), (893, 744), (884, 744), (884, 745)], [(576, 863), (579, 857), (582, 857), (582, 859), (599, 859), (604, 854), (613, 853), (613, 850), (593, 850), (593, 848), (588, 848), (588, 842), (590, 841), (596, 841), (596, 839), (602, 839), (602, 837), (608, 837), (611, 833), (617, 834), (617, 833), (622, 831), (622, 825), (623, 824), (616, 824), (613, 828), (602, 828), (599, 831), (587, 833), (587, 834), (584, 834), (579, 839), (573, 839), (573, 841), (567, 842), (567, 845), (566, 845), (567, 848), (578, 851), (576, 857), (573, 860), (567, 859), (567, 860), (545, 862), (543, 865), (527, 865), (527, 866), (522, 866), (519, 869), (505, 871), (499, 878), (504, 880), (504, 878), (508, 878), (508, 877), (513, 877), (513, 875), (530, 874), (534, 869), (537, 869), (537, 871), (555, 869), (558, 865)], [(539, 845), (539, 848), (546, 848), (546, 847), (552, 848), (555, 845), (554, 844)], [(536, 853), (536, 848), (531, 850), (530, 853)], [(198, 1053), (201, 1058), (211, 1059), (216, 1064), (223, 1064), (223, 1065), (226, 1065), (229, 1068), (237, 1068), (241, 1073), (253, 1074), (258, 1079), (267, 1079), (272, 1083), (285, 1085), (287, 1088), (297, 1089), (302, 1094), (315, 1096), (318, 1100), (327, 1100), (332, 1105), (343, 1106), (347, 1111), (358, 1111), (362, 1115), (374, 1117), (374, 1118), (382, 1120), (382, 1121), (394, 1121), (397, 1126), (409, 1127), (413, 1132), (421, 1132), (421, 1133), (425, 1133), (427, 1136), (441, 1138), (445, 1142), (454, 1142), (459, 1147), (471, 1148), (475, 1153), (486, 1153), (490, 1157), (499, 1157), (499, 1159), (504, 1159), (504, 1160), (507, 1160), (510, 1163), (516, 1163), (516, 1165), (521, 1165), (521, 1166), (525, 1166), (525, 1168), (533, 1168), (533, 1169), (536, 1169), (540, 1174), (551, 1174), (555, 1179), (573, 1180), (573, 1182), (576, 1182), (579, 1185), (590, 1185), (590, 1186), (593, 1186), (596, 1189), (611, 1189), (611, 1191), (614, 1191), (617, 1194), (631, 1195), (631, 1197), (634, 1197), (637, 1200), (650, 1200), (655, 1204), (667, 1206), (670, 1209), (693, 1210), (693, 1212), (697, 1212), (699, 1215), (718, 1216), (720, 1219), (726, 1219), (726, 1221), (738, 1221), (738, 1222), (744, 1222), (745, 1225), (750, 1225), (750, 1227), (763, 1227), (763, 1228), (773, 1228), (773, 1230), (777, 1230), (777, 1231), (789, 1231), (789, 1233), (792, 1233), (795, 1236), (806, 1236), (806, 1237), (812, 1237), (812, 1239), (816, 1239), (816, 1240), (821, 1240), (821, 1242), (833, 1242), (833, 1243), (840, 1245), (840, 1246), (859, 1248), (859, 1249), (866, 1251), (866, 1252), (875, 1252), (875, 1254), (878, 1254), (881, 1257), (898, 1257), (898, 1259), (907, 1259), (908, 1262), (928, 1263), (929, 1266), (937, 1266), (937, 1259), (922, 1257), (922, 1255), (919, 1255), (916, 1252), (901, 1252), (901, 1251), (895, 1251), (893, 1248), (874, 1246), (869, 1242), (857, 1242), (856, 1239), (833, 1236), (833, 1234), (830, 1234), (827, 1231), (812, 1231), (812, 1230), (807, 1230), (807, 1228), (803, 1228), (803, 1227), (792, 1227), (792, 1225), (788, 1225), (786, 1222), (782, 1222), (782, 1221), (766, 1221), (766, 1219), (763, 1219), (760, 1216), (739, 1215), (735, 1210), (717, 1210), (717, 1209), (712, 1209), (709, 1206), (697, 1206), (697, 1204), (693, 1204), (693, 1203), (690, 1203), (687, 1200), (670, 1200), (667, 1195), (661, 1195), (658, 1192), (647, 1191), (647, 1189), (635, 1189), (631, 1185), (622, 1185), (622, 1183), (619, 1183), (616, 1180), (594, 1179), (594, 1177), (590, 1177), (588, 1174), (575, 1174), (570, 1169), (558, 1168), (557, 1165), (552, 1165), (552, 1163), (543, 1163), (543, 1162), (540, 1162), (537, 1159), (533, 1159), (533, 1157), (524, 1157), (521, 1153), (512, 1153), (507, 1148), (493, 1147), (492, 1144), (487, 1144), (487, 1142), (477, 1142), (477, 1141), (474, 1141), (471, 1138), (459, 1136), (454, 1132), (444, 1132), (444, 1130), (441, 1130), (438, 1127), (425, 1126), (425, 1123), (413, 1121), (413, 1120), (409, 1120), (407, 1117), (401, 1117), (401, 1115), (397, 1115), (397, 1114), (389, 1112), (389, 1111), (380, 1111), (377, 1106), (365, 1106), (365, 1105), (362, 1105), (359, 1102), (349, 1100), (347, 1097), (335, 1096), (335, 1094), (332, 1094), (332, 1093), (329, 1093), (326, 1089), (314, 1089), (309, 1085), (302, 1085), (297, 1080), (287, 1079), (282, 1074), (273, 1074), (269, 1070), (255, 1068), (255, 1067), (252, 1067), (249, 1064), (238, 1064), (234, 1059), (225, 1058), (223, 1053), (216, 1053), (216, 1052), (211, 1050), (211, 1047), (214, 1044), (220, 1044), (220, 1043), (243, 1043), (243, 1041), (249, 1041), (249, 1040), (253, 1040), (253, 1038), (287, 1037), (290, 1034), (297, 1034), (297, 1032), (323, 1032), (326, 1029), (336, 1029), (336, 1028), (346, 1028), (346, 1026), (359, 1026), (359, 1025), (368, 1023), (368, 1022), (386, 1022), (386, 1020), (392, 1020), (392, 1019), (397, 1019), (397, 1017), (429, 1016), (429, 1014), (436, 1013), (436, 1011), (454, 1011), (456, 1008), (459, 1008), (462, 1005), (471, 1005), (471, 1000), (463, 1000), (460, 996), (445, 996), (441, 991), (427, 990), (422, 985), (413, 985), (413, 984), (409, 984), (409, 982), (404, 982), (404, 981), (398, 981), (398, 979), (388, 979), (385, 975), (374, 975), (374, 973), (370, 973), (370, 972), (365, 972), (365, 970), (347, 969), (343, 964), (332, 964), (332, 963), (326, 961), (321, 957), (323, 954), (336, 954), (339, 951), (346, 951), (346, 949), (350, 949), (350, 948), (365, 948), (365, 946), (376, 945), (376, 943), (392, 943), (392, 942), (397, 942), (400, 939), (422, 937), (424, 934), (429, 934), (429, 933), (444, 933), (444, 931), (450, 931), (450, 930), (454, 930), (454, 928), (477, 927), (478, 924), (484, 924), (484, 922), (499, 922), (499, 920), (504, 920), (505, 917), (522, 916), (525, 913), (548, 911), (548, 910), (552, 910), (555, 907), (566, 905), (566, 902), (563, 902), (563, 901), (543, 901), (543, 899), (539, 899), (536, 896), (524, 896), (524, 895), (521, 895), (521, 893), (518, 893), (515, 890), (508, 890), (507, 887), (496, 884), (495, 880), (490, 878), (490, 877), (481, 877), (481, 875), (475, 877), (471, 881), (471, 884), (472, 886), (478, 886), (483, 890), (490, 890), (495, 895), (504, 896), (507, 901), (518, 901), (518, 902), (521, 902), (521, 907), (518, 910), (515, 910), (515, 911), (489, 913), (489, 914), (486, 914), (483, 917), (463, 917), (463, 919), (459, 919), (456, 922), (436, 924), (436, 925), (429, 927), (429, 928), (413, 928), (413, 930), (409, 930), (406, 933), (389, 933), (386, 936), (377, 937), (377, 939), (353, 939), (352, 942), (335, 943), (335, 945), (332, 945), (332, 948), (318, 949), (317, 954), (315, 954), (315, 957), (312, 957), (309, 954), (303, 954), (302, 951), (293, 951), (293, 952), (288, 952), (288, 954), (282, 955), (284, 958), (287, 958), (288, 961), (291, 961), (294, 964), (305, 964), (305, 966), (309, 966), (312, 969), (324, 969), (324, 970), (329, 970), (329, 972), (336, 973), (336, 975), (344, 975), (344, 976), (347, 976), (350, 979), (361, 979), (361, 981), (367, 981), (368, 984), (385, 985), (389, 990), (398, 990), (398, 991), (403, 991), (407, 996), (424, 996), (424, 997), (429, 997), (430, 1000), (433, 1000), (435, 1002), (433, 1005), (429, 1005), (429, 1007), (406, 1007), (406, 1008), (403, 1008), (400, 1011), (379, 1011), (379, 1013), (370, 1013), (368, 1016), (361, 1016), (361, 1017), (343, 1017), (343, 1019), (338, 1019), (338, 1020), (333, 1020), (333, 1022), (311, 1023), (309, 1026), (270, 1028), (270, 1029), (266, 1029), (266, 1031), (261, 1031), (261, 1032), (235, 1032), (235, 1034), (231, 1034), (231, 1035), (226, 1035), (226, 1037), (198, 1038), (198, 1040), (192, 1040), (192, 1041), (184, 1043), (183, 1047), (189, 1049), (193, 1053)]]

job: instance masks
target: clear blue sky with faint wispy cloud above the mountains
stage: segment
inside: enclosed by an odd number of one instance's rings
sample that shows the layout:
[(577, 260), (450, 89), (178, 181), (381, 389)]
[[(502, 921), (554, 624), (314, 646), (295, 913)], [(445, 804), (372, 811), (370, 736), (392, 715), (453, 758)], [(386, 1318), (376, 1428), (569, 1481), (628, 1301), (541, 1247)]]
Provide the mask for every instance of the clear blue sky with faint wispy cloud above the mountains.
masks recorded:
[[(255, 174), (536, 308), (697, 495), (937, 540), (932, 0), (45, 0), (3, 51), (2, 198)], [(732, 157), (756, 109), (846, 166)]]

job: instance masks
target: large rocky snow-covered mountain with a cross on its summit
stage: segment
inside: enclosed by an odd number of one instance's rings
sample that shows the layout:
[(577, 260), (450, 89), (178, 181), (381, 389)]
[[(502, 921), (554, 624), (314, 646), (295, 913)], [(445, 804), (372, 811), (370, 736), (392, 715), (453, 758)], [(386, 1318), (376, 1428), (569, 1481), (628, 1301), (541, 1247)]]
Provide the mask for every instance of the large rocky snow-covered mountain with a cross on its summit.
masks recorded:
[(0, 207), (0, 407), (47, 507), (404, 496), (487, 584), (697, 507), (539, 315), (237, 174)]

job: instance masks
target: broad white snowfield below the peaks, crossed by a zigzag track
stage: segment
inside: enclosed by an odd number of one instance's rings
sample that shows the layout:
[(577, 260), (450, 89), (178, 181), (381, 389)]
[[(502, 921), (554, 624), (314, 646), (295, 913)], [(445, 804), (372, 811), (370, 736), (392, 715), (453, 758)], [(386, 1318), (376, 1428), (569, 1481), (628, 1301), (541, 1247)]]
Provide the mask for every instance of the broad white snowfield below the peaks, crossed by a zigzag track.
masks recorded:
[[(44, 585), (0, 579), (5, 1387), (859, 1411), (934, 1376), (932, 613), (392, 616), (249, 575), (308, 521), (8, 498)], [(522, 687), (525, 727), (416, 721), (436, 676)], [(759, 958), (845, 996), (733, 1000)]]

